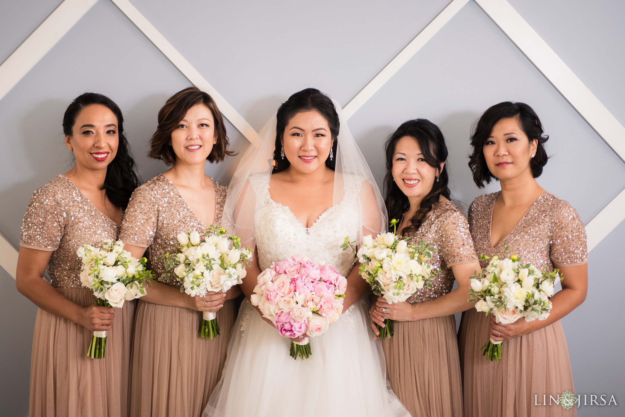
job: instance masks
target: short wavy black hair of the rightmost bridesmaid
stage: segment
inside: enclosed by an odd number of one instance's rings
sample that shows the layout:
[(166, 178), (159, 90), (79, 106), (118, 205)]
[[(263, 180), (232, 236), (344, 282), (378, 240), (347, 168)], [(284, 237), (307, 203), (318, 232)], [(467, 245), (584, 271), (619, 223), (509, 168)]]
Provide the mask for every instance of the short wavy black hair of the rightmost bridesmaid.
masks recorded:
[[(523, 129), (527, 139), (532, 142), (534, 139), (538, 141), (536, 154), (531, 159), (529, 166), (532, 169), (532, 176), (539, 177), (542, 174), (542, 167), (547, 164), (547, 151), (544, 144), (549, 136), (543, 135), (542, 124), (536, 112), (525, 103), (512, 103), (504, 101), (488, 108), (473, 128), (471, 134), (471, 146), (473, 152), (469, 155), (469, 168), (473, 173), (473, 181), (478, 188), (483, 188), (484, 183), (488, 184), (491, 180), (497, 179), (486, 165), (484, 158), (484, 143), (491, 136), (492, 128), (501, 119), (516, 118), (519, 126)], [(497, 181), (499, 181), (497, 179)]]

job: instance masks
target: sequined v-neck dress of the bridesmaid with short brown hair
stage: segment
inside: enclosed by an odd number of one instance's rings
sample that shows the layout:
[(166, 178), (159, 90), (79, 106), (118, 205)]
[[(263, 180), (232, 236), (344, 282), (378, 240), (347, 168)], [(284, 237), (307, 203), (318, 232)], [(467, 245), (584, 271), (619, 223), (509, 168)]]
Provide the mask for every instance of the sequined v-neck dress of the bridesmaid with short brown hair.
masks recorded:
[[(227, 188), (213, 181), (216, 209), (213, 224), (221, 224)], [(163, 278), (165, 253), (179, 249), (176, 234), (206, 226), (184, 202), (178, 189), (163, 174), (137, 188), (128, 204), (119, 238), (147, 248), (144, 256), (158, 285), (180, 288)], [(148, 289), (149, 291), (149, 289)], [(221, 376), (226, 343), (236, 318), (234, 301), (217, 311), (221, 334), (203, 339), (197, 331), (202, 313), (162, 306), (139, 299), (131, 364), (132, 416), (199, 417)]]

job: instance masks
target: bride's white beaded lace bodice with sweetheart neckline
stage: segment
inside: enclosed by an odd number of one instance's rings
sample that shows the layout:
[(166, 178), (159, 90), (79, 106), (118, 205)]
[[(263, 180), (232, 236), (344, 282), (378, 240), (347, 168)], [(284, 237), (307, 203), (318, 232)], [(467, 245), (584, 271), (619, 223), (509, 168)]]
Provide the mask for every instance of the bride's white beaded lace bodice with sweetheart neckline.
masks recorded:
[(357, 236), (359, 215), (355, 201), (362, 180), (346, 176), (341, 203), (324, 211), (311, 227), (306, 228), (297, 221), (291, 209), (271, 199), (267, 181), (261, 175), (249, 178), (256, 193), (254, 233), (261, 271), (271, 267), (273, 262), (301, 254), (315, 263), (329, 264), (347, 276), (353, 256), (351, 250), (343, 251), (341, 244), (346, 236), (350, 241)]

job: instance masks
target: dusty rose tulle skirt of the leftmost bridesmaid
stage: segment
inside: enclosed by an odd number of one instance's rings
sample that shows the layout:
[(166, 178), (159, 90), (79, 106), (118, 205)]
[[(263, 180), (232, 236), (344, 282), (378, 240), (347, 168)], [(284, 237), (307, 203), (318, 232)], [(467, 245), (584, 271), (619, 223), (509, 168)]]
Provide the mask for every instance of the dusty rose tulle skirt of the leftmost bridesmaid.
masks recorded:
[[(56, 288), (83, 307), (95, 297), (88, 288)], [(30, 417), (126, 417), (128, 371), (136, 301), (115, 309), (104, 359), (89, 358), (93, 331), (37, 310), (32, 338)]]

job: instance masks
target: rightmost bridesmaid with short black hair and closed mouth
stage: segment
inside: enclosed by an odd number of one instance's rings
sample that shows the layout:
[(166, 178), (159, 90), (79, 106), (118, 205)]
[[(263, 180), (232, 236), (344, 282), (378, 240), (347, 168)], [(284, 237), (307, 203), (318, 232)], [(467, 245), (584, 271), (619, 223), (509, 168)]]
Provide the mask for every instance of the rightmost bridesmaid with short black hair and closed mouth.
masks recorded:
[[(464, 414), (482, 416), (575, 416), (557, 404), (537, 406), (542, 396), (574, 393), (569, 352), (560, 319), (586, 298), (587, 249), (584, 224), (566, 201), (536, 182), (547, 163), (541, 121), (524, 103), (499, 103), (487, 109), (471, 137), (469, 167), (478, 187), (497, 179), (501, 191), (477, 197), (469, 225), (477, 253), (509, 253), (541, 269), (557, 268), (562, 289), (552, 298), (545, 320), (497, 324), (470, 309), (459, 331), (464, 382)], [(482, 262), (482, 266), (486, 263)], [(489, 336), (502, 344), (491, 362), (479, 349)]]

